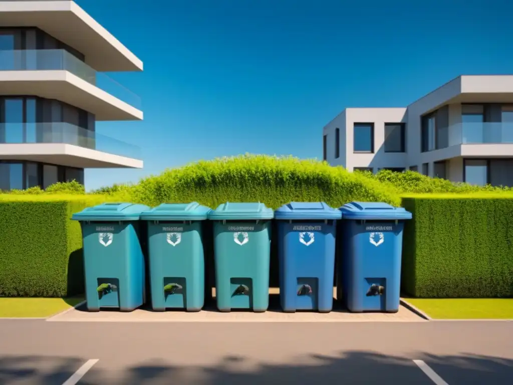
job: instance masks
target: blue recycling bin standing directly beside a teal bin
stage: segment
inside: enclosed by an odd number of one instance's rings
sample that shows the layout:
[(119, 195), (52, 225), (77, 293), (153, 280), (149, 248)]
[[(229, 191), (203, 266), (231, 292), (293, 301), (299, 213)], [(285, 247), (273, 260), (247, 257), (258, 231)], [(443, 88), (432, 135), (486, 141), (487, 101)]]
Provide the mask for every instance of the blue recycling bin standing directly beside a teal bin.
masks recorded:
[(336, 227), (341, 218), (340, 210), (324, 202), (290, 202), (274, 211), (285, 312), (331, 311)]

